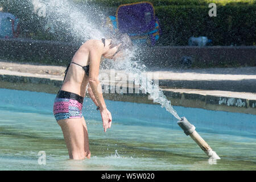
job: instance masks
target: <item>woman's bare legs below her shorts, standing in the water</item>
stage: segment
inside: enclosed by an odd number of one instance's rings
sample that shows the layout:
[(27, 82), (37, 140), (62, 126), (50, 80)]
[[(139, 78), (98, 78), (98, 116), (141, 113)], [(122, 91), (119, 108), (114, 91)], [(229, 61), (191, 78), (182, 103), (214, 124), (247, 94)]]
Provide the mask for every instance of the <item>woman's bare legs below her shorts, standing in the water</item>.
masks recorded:
[[(69, 158), (77, 160), (85, 159), (89, 151), (89, 142), (84, 119), (61, 119), (57, 123), (63, 131), (63, 137), (67, 144)], [(86, 147), (88, 148), (86, 151), (85, 146), (88, 146)]]

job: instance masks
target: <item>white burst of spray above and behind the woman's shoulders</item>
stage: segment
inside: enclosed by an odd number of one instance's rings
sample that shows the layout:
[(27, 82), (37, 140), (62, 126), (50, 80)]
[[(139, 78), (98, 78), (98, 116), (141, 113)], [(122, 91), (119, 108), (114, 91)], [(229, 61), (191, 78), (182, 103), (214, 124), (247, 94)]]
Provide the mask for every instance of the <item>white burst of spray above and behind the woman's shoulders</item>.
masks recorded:
[(43, 16), (49, 29), (65, 32), (74, 40), (85, 42), (89, 39), (100, 39), (104, 34), (97, 28), (99, 22), (95, 17), (104, 17), (99, 10), (84, 3), (80, 6), (77, 3), (67, 0), (31, 0), (34, 6), (34, 13)]

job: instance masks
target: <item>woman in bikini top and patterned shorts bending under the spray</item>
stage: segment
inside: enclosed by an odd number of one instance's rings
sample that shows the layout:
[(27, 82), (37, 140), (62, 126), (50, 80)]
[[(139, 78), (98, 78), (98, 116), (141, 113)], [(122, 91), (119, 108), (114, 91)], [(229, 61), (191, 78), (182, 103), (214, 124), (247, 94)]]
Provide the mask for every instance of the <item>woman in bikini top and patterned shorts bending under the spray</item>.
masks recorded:
[(123, 50), (130, 47), (127, 35), (115, 41), (88, 40), (73, 56), (53, 105), (53, 113), (63, 131), (69, 158), (90, 158), (88, 130), (81, 111), (86, 87), (97, 110), (100, 110), (104, 131), (111, 127), (112, 115), (106, 108), (98, 80), (101, 58), (116, 60), (123, 56)]

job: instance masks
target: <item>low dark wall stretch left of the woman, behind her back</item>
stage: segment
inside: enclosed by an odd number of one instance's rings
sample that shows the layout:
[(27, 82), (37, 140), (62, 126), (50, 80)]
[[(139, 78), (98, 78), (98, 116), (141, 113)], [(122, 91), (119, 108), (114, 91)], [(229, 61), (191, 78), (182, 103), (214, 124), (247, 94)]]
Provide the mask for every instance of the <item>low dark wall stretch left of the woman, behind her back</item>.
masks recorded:
[(0, 57), (15, 61), (67, 65), (79, 45), (30, 39), (0, 39)]

